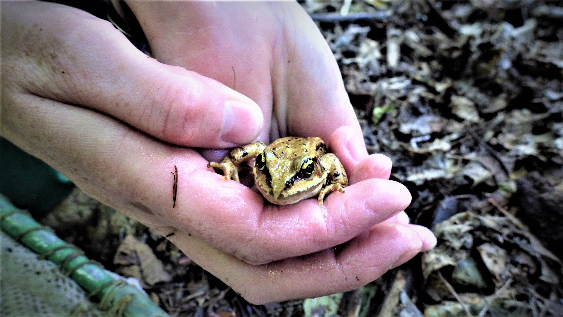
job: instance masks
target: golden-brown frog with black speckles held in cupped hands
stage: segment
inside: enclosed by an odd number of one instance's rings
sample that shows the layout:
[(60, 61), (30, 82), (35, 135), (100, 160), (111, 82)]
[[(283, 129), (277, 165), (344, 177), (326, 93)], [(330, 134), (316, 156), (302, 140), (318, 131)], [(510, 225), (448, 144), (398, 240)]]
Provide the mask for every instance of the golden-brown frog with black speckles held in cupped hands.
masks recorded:
[(221, 160), (209, 162), (208, 168), (223, 171), (224, 180), (240, 183), (239, 170), (254, 159), (254, 183), (266, 200), (276, 205), (294, 204), (318, 195), (322, 207), (324, 197), (334, 191), (344, 193), (348, 177), (342, 163), (318, 137), (285, 137), (266, 146), (257, 141), (234, 148)]

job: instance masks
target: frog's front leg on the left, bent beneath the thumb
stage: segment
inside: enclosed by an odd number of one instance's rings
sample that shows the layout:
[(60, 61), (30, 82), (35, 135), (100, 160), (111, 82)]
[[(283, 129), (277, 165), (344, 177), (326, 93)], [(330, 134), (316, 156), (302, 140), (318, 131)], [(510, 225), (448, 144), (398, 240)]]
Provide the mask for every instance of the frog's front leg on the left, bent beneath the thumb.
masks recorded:
[(240, 183), (239, 168), (243, 162), (248, 162), (260, 154), (266, 145), (260, 141), (247, 144), (242, 147), (234, 148), (227, 154), (221, 162), (209, 162), (208, 168), (216, 168), (223, 171), (224, 180), (229, 180), (231, 177)]

